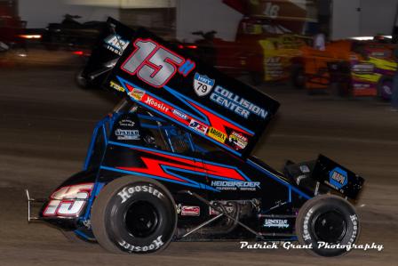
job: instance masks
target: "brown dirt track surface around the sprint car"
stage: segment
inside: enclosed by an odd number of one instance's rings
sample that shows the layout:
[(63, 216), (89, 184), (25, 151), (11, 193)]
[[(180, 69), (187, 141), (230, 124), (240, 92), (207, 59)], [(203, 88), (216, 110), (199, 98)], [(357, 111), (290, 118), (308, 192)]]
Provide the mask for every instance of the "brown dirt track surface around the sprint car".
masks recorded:
[(46, 224), (28, 224), (24, 189), (47, 197), (81, 169), (96, 120), (115, 102), (78, 89), (73, 77), (72, 70), (0, 69), (1, 266), (398, 265), (398, 112), (379, 101), (310, 97), (284, 87), (263, 86), (282, 108), (255, 154), (280, 169), (287, 158), (322, 152), (362, 174), (359, 243), (382, 244), (382, 252), (325, 259), (301, 250), (241, 250), (239, 243), (172, 243), (162, 254), (115, 255)]

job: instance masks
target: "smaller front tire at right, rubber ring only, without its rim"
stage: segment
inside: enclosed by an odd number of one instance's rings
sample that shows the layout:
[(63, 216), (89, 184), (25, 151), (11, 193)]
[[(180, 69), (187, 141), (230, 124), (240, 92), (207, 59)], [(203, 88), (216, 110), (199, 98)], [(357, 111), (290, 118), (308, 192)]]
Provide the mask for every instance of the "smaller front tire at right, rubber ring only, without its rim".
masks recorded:
[(340, 245), (352, 246), (357, 240), (360, 233), (360, 224), (358, 215), (345, 199), (334, 196), (322, 196), (309, 199), (304, 206), (301, 207), (296, 221), (296, 233), (299, 243), (306, 246), (312, 246), (310, 249), (314, 254), (322, 256), (338, 256), (346, 254), (351, 249), (347, 248), (325, 248), (322, 241), (318, 241), (314, 234), (314, 219), (320, 214), (330, 210), (338, 210), (346, 220), (346, 234), (341, 239)]

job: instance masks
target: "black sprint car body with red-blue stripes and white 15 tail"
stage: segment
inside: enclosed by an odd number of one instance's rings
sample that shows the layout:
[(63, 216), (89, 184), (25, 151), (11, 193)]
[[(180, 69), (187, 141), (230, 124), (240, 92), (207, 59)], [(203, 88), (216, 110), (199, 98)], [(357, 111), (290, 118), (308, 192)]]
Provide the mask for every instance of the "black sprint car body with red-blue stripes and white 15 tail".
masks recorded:
[[(148, 136), (155, 137), (156, 141), (148, 143)], [(82, 224), (90, 221), (91, 206), (100, 190), (110, 181), (126, 175), (144, 176), (163, 183), (179, 199), (184, 210), (182, 216), (186, 216), (189, 206), (204, 209), (204, 218), (213, 215), (208, 206), (179, 195), (187, 189), (208, 200), (244, 202), (257, 199), (261, 203), (259, 213), (273, 213), (278, 207), (283, 211), (287, 206), (298, 208), (312, 197), (258, 158), (235, 157), (162, 117), (113, 113), (95, 127), (84, 170), (52, 193), (40, 216), (61, 228), (82, 230)], [(66, 214), (64, 209), (68, 209)], [(192, 226), (202, 222), (203, 215), (194, 221), (192, 217), (184, 221)], [(261, 230), (257, 218), (250, 222)], [(227, 238), (238, 239), (243, 235), (242, 230), (237, 230), (236, 235), (229, 234)]]

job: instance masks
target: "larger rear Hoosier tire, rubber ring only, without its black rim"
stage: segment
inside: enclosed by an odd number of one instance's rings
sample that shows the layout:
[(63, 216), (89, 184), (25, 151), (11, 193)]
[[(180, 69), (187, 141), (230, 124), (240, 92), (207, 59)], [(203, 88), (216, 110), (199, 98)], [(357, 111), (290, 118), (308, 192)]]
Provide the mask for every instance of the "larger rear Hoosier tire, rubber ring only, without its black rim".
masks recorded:
[[(102, 192), (104, 193), (101, 195)], [(92, 224), (94, 235), (101, 246), (109, 251), (130, 254), (155, 253), (168, 246), (174, 236), (177, 228), (174, 200), (171, 193), (157, 181), (141, 177), (137, 180), (135, 176), (123, 177), (109, 183), (96, 201), (102, 204), (95, 206), (94, 202), (93, 208), (97, 208)], [(124, 222), (129, 206), (138, 201), (149, 203), (157, 214), (155, 230), (145, 238), (132, 236)]]

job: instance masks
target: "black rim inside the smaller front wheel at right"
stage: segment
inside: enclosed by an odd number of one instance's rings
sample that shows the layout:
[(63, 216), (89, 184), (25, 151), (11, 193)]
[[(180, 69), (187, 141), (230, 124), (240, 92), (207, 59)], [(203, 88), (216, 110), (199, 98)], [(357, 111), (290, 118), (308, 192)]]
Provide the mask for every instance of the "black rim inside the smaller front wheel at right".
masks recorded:
[(315, 217), (313, 229), (318, 241), (338, 244), (346, 236), (347, 222), (343, 214), (331, 210)]

